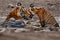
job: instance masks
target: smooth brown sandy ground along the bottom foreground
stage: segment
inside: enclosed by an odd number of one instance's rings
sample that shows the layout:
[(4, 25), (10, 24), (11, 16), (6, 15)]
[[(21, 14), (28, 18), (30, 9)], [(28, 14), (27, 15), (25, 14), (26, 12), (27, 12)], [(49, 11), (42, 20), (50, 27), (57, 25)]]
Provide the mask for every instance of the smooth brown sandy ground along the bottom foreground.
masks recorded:
[(4, 33), (0, 40), (60, 40), (60, 32)]

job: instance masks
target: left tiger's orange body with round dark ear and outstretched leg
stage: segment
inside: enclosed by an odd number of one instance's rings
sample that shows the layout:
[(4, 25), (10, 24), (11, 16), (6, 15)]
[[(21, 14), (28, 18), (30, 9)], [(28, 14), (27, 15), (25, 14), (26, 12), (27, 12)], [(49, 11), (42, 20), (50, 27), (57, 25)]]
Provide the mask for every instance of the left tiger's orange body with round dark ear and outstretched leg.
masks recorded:
[(12, 10), (9, 12), (9, 14), (7, 15), (4, 23), (2, 25), (4, 25), (6, 22), (9, 21), (10, 18), (14, 18), (16, 20), (21, 20), (23, 19), (22, 16), (20, 15), (23, 12), (23, 6), (20, 2), (17, 3), (17, 6), (12, 8)]

